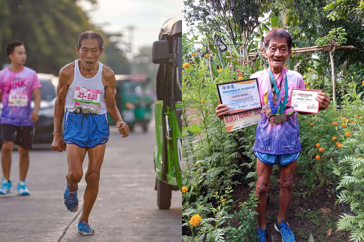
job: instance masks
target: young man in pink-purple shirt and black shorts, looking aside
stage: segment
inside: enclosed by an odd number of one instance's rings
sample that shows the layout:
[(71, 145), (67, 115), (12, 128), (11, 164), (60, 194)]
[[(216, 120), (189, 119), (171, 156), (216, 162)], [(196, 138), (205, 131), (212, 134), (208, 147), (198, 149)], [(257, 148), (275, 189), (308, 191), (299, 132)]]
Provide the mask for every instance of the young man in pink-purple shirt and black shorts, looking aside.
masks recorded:
[[(29, 166), (29, 150), (32, 148), (33, 125), (39, 118), (40, 82), (37, 73), (24, 66), (27, 53), (23, 42), (15, 40), (6, 46), (6, 53), (11, 66), (0, 71), (0, 99), (3, 102), (1, 112), (1, 164), (4, 178), (0, 194), (13, 192), (10, 179), (11, 152), (13, 145), (18, 145), (20, 160), (20, 181), (17, 185), (19, 195), (29, 195), (25, 185)], [(35, 108), (30, 103), (34, 96)]]

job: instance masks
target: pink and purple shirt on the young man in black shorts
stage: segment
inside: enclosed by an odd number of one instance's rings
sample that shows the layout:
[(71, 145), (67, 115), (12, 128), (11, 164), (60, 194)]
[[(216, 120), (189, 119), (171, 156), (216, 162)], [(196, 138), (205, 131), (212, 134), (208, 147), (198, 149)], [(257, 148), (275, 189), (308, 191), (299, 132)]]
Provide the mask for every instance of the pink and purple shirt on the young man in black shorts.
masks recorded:
[(13, 72), (8, 67), (0, 71), (0, 93), (3, 94), (1, 124), (33, 126), (30, 119), (32, 90), (41, 88), (37, 73), (28, 68)]

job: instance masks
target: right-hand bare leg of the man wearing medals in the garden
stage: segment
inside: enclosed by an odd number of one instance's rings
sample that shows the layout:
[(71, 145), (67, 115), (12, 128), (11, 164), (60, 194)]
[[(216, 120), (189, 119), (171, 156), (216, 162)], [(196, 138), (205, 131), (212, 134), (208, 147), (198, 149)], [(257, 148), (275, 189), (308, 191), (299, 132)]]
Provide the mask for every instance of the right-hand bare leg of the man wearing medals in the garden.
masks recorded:
[(289, 205), (292, 201), (293, 174), (296, 169), (296, 164), (297, 160), (292, 161), (287, 165), (281, 165), (281, 191), (279, 193), (279, 212), (277, 217), (278, 225), (280, 225), (281, 220), (286, 220)]

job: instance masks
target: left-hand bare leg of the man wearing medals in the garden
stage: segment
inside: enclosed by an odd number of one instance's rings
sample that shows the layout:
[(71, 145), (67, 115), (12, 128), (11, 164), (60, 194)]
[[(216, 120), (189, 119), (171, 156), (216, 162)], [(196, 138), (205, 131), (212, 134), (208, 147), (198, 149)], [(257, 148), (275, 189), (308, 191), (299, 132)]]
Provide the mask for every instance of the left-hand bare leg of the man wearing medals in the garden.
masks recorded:
[(270, 172), (272, 172), (273, 165), (263, 163), (257, 158), (257, 184), (255, 188), (255, 196), (259, 197), (258, 206), (258, 225), (262, 230), (266, 230), (265, 225), (265, 209), (267, 206), (267, 192), (270, 186)]

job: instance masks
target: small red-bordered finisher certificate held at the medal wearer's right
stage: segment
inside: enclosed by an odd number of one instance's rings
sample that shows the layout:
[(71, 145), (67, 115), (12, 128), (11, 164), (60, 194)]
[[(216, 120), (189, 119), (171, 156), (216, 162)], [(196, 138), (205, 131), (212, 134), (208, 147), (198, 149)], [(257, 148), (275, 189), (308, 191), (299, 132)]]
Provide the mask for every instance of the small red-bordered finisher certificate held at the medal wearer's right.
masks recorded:
[(315, 99), (321, 90), (292, 89), (290, 106), (297, 112), (318, 114), (320, 103)]

